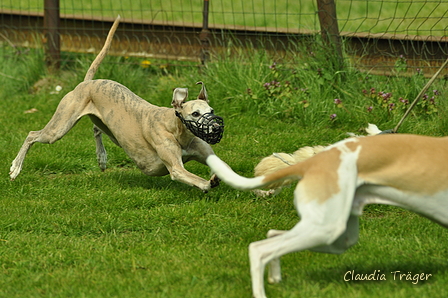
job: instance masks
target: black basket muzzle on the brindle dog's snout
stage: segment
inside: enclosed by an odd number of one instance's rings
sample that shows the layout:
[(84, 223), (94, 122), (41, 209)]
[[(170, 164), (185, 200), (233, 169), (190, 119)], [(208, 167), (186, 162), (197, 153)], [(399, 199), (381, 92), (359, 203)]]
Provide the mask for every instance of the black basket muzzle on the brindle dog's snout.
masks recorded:
[(182, 123), (198, 138), (213, 145), (221, 141), (224, 133), (224, 119), (212, 113), (205, 113), (197, 121), (185, 120), (185, 118), (176, 111), (176, 116)]

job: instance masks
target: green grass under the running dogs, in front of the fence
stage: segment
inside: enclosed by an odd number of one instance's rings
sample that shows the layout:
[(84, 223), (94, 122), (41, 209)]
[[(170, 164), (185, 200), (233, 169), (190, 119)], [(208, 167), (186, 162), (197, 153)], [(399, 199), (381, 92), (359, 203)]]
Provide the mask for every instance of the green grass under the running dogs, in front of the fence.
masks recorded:
[[(226, 121), (214, 150), (237, 172), (251, 176), (256, 163), (272, 152), (329, 144), (346, 132), (360, 133), (367, 122), (392, 128), (405, 107), (399, 98), (412, 100), (426, 82), (419, 74), (341, 72), (320, 51), (275, 67), (254, 52), (240, 60), (215, 59), (200, 71), (142, 69), (108, 57), (97, 78), (117, 80), (161, 106), (170, 105), (173, 88), (188, 87), (193, 98), (199, 92), (195, 82), (204, 81), (211, 105)], [(298, 222), (293, 188), (268, 199), (227, 185), (203, 194), (169, 177), (143, 175), (108, 140), (109, 168), (102, 173), (88, 119), (55, 144), (34, 145), (22, 173), (9, 181), (10, 163), (27, 133), (46, 124), (92, 57), (70, 59), (77, 62), (50, 75), (39, 51), (19, 55), (3, 48), (1, 53), (0, 297), (251, 296), (247, 247), (271, 228), (290, 229)], [(265, 87), (273, 81), (280, 86)], [(51, 94), (56, 85), (63, 87), (61, 93)], [(371, 88), (391, 97), (385, 102)], [(446, 81), (437, 81), (435, 89), (436, 105), (422, 101), (401, 132), (446, 134)], [(396, 107), (389, 111), (391, 103)], [(31, 108), (38, 112), (24, 113)], [(203, 165), (186, 167), (209, 175)], [(266, 284), (268, 297), (446, 297), (446, 233), (408, 211), (368, 206), (356, 246), (340, 256), (305, 251), (283, 257), (284, 280)], [(380, 270), (387, 281), (344, 281), (350, 270)], [(392, 271), (432, 277), (413, 285), (394, 281)]]

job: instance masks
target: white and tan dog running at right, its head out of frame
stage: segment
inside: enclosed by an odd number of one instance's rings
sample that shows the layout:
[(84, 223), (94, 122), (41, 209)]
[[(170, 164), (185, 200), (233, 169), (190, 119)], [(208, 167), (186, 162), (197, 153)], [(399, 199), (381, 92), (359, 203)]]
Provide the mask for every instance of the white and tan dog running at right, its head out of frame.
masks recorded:
[(269, 262), (269, 281), (279, 282), (282, 255), (308, 249), (342, 253), (355, 244), (366, 204), (403, 207), (448, 228), (446, 160), (448, 137), (384, 134), (340, 141), (256, 178), (239, 176), (215, 155), (207, 163), (222, 181), (241, 190), (300, 180), (294, 191), (299, 223), (289, 231), (270, 230), (268, 239), (249, 246), (253, 295), (262, 298)]

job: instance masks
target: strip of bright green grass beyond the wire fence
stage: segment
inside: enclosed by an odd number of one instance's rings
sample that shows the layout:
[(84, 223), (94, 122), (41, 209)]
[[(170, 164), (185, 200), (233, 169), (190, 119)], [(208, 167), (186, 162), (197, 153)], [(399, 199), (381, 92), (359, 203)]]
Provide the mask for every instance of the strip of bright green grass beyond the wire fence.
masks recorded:
[[(347, 32), (445, 36), (445, 1), (336, 1), (339, 29)], [(43, 11), (43, 2), (3, 1), (2, 7)], [(203, 1), (62, 0), (62, 14), (202, 24)], [(210, 25), (238, 25), (319, 30), (313, 0), (210, 1)]]

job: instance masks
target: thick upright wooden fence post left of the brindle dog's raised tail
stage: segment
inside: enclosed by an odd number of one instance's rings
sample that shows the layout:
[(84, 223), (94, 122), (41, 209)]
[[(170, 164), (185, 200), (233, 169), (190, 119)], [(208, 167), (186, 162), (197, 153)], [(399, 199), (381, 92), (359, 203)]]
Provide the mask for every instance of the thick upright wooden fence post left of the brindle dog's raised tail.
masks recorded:
[(45, 60), (51, 70), (61, 64), (59, 0), (44, 0)]

